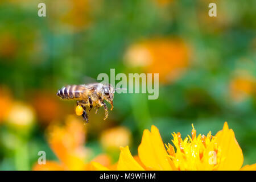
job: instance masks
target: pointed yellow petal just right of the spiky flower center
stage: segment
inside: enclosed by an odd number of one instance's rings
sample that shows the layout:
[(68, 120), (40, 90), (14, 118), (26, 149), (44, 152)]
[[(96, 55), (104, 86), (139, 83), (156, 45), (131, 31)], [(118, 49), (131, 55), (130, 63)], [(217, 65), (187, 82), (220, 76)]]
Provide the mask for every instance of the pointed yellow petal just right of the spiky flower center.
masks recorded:
[(218, 146), (221, 148), (223, 161), (218, 170), (240, 170), (243, 164), (243, 153), (237, 143), (234, 131), (229, 129), (228, 123), (216, 134)]

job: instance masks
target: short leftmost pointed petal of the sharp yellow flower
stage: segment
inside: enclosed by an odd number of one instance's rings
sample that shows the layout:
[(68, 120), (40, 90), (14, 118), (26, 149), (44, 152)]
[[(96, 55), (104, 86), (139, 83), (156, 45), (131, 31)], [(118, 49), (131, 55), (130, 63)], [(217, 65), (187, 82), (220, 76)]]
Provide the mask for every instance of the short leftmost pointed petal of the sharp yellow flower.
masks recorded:
[(117, 170), (118, 171), (144, 171), (144, 169), (133, 158), (129, 147), (120, 147), (121, 153), (119, 156)]

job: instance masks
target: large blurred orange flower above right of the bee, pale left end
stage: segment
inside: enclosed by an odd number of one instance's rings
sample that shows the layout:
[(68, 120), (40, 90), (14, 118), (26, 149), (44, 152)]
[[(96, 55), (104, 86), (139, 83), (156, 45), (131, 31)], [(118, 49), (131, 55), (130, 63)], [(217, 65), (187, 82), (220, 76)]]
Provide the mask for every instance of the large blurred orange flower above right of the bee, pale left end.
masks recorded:
[(179, 78), (189, 65), (188, 46), (180, 39), (150, 39), (130, 46), (125, 55), (130, 67), (159, 73), (163, 84)]

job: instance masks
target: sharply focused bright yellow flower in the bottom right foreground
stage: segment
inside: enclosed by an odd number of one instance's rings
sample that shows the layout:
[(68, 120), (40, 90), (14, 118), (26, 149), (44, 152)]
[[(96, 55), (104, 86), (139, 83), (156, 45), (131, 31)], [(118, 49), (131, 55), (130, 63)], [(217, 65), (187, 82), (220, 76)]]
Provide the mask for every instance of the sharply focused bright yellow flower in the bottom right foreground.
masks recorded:
[[(193, 127), (193, 125), (192, 125)], [(243, 164), (242, 150), (229, 129), (228, 123), (215, 136), (196, 135), (184, 140), (180, 133), (172, 133), (174, 139), (164, 147), (159, 130), (151, 127), (144, 130), (138, 147), (138, 158), (133, 158), (129, 147), (121, 147), (117, 170), (240, 170)], [(175, 150), (175, 148), (176, 150)], [(98, 165), (97, 169), (101, 169)], [(256, 164), (247, 165), (242, 170), (253, 170)]]

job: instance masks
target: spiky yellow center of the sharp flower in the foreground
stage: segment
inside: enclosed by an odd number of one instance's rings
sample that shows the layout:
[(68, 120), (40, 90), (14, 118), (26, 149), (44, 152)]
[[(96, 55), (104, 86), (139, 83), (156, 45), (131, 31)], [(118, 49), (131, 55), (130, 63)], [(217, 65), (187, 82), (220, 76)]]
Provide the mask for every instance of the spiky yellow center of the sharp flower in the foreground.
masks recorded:
[(179, 170), (214, 170), (218, 168), (221, 160), (221, 148), (216, 139), (209, 132), (207, 136), (199, 134), (196, 136), (196, 130), (192, 124), (191, 137), (188, 135), (184, 140), (181, 134), (172, 133), (172, 146), (168, 143), (167, 152)]

